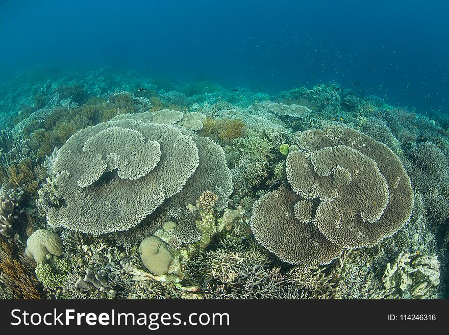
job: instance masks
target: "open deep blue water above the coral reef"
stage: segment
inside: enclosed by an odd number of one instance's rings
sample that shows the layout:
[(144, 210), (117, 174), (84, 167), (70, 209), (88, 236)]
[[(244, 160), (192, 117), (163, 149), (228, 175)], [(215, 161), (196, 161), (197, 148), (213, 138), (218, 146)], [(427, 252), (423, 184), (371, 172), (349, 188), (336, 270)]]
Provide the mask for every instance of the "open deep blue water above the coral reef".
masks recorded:
[(0, 1), (0, 73), (111, 66), (276, 93), (335, 80), (449, 113), (444, 0)]

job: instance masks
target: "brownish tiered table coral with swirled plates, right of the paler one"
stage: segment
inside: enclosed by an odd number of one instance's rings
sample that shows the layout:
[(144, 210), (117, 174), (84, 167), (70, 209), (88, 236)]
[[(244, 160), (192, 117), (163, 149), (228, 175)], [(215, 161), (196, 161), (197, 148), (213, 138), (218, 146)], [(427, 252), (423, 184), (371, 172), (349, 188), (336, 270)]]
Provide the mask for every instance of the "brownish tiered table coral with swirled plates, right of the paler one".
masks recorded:
[(291, 186), (253, 208), (256, 239), (289, 263), (329, 263), (344, 248), (372, 246), (406, 223), (413, 190), (400, 159), (384, 144), (340, 126), (296, 134)]

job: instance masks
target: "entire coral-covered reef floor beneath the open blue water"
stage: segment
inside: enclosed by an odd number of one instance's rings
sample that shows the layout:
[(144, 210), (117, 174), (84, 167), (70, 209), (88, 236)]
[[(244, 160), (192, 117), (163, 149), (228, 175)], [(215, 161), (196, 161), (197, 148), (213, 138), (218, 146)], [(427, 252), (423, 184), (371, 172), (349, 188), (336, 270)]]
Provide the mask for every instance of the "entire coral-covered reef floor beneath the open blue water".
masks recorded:
[(447, 297), (447, 116), (336, 83), (46, 78), (1, 87), (1, 298)]

